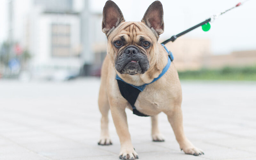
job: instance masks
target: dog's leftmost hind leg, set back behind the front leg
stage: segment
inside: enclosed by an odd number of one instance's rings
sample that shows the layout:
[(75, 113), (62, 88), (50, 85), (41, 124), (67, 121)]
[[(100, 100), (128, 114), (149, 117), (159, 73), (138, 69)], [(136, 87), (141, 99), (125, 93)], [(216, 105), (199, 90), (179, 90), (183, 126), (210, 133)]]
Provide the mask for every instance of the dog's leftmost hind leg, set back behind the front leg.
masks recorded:
[[(101, 82), (103, 83), (103, 82)], [(100, 93), (99, 93), (99, 108), (101, 113), (101, 131), (100, 131), (100, 141), (99, 145), (111, 145), (112, 142), (110, 140), (109, 132), (108, 132), (108, 96), (105, 87), (100, 85)]]

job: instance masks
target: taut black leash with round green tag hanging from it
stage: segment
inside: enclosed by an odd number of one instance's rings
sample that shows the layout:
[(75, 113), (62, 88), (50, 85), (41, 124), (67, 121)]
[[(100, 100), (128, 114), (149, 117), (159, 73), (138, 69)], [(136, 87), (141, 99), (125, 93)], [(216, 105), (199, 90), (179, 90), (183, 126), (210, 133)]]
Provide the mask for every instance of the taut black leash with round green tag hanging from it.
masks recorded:
[(228, 10), (226, 10), (226, 11), (224, 11), (224, 12), (221, 12), (221, 13), (219, 13), (219, 14), (217, 14), (217, 15), (214, 14), (214, 15), (212, 15), (211, 18), (208, 18), (207, 20), (205, 20), (205, 21), (203, 21), (203, 22), (201, 22), (201, 23), (199, 23), (199, 24), (197, 24), (197, 25), (195, 25), (195, 26), (193, 26), (193, 27), (191, 27), (191, 28), (189, 28), (189, 29), (187, 29), (187, 30), (185, 30), (185, 31), (183, 31), (183, 32), (181, 32), (181, 33), (179, 33), (179, 34), (177, 34), (177, 35), (173, 35), (171, 38), (165, 40), (165, 41), (162, 42), (161, 44), (166, 44), (166, 43), (168, 43), (168, 42), (170, 42), (170, 41), (174, 42), (178, 37), (180, 37), (180, 36), (182, 36), (182, 35), (188, 33), (189, 31), (191, 31), (191, 30), (193, 30), (193, 29), (196, 29), (197, 27), (200, 27), (200, 26), (202, 26), (203, 31), (207, 32), (207, 31), (210, 30), (210, 28), (211, 28), (211, 25), (210, 25), (209, 22), (213, 22), (213, 21), (216, 20), (220, 15), (222, 15), (222, 14), (224, 14), (224, 13), (226, 13), (226, 12), (228, 12), (228, 11), (230, 11), (230, 10), (232, 10), (232, 9), (234, 9), (234, 8), (236, 8), (236, 7), (240, 6), (240, 5), (242, 5), (242, 4), (244, 4), (244, 3), (247, 2), (247, 1), (249, 1), (249, 0), (245, 0), (245, 1), (242, 2), (242, 3), (239, 2), (238, 4), (236, 4), (235, 6), (233, 6), (232, 8), (229, 8)]

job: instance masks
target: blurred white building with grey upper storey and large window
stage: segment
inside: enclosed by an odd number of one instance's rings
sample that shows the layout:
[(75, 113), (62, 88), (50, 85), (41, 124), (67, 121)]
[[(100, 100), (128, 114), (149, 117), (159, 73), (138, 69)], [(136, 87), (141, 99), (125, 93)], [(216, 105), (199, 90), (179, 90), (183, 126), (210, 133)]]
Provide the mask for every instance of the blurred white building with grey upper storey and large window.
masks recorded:
[(72, 0), (34, 0), (25, 39), (36, 76), (51, 76), (56, 71), (79, 73), (83, 64), (80, 19)]

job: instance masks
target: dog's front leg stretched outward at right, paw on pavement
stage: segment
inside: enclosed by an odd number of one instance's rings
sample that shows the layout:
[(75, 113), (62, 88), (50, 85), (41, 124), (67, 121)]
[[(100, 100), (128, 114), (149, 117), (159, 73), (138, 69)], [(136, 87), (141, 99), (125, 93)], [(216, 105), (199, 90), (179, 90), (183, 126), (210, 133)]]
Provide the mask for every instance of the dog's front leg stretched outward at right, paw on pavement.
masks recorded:
[(170, 124), (172, 125), (176, 140), (180, 144), (180, 149), (183, 150), (186, 154), (194, 156), (204, 154), (203, 151), (196, 148), (184, 134), (181, 107), (176, 107), (166, 114)]

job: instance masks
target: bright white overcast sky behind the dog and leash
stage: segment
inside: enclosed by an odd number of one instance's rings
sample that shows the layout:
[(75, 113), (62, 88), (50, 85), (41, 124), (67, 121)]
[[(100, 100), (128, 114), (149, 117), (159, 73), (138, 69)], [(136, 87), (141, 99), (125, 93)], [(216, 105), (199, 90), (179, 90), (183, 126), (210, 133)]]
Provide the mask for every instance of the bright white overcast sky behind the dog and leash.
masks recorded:
[[(8, 33), (8, 1), (9, 0), (0, 0), (0, 43), (6, 40)], [(19, 1), (19, 5), (15, 7), (16, 12), (18, 14), (26, 12), (27, 5), (25, 3), (27, 3), (28, 0), (16, 1)], [(126, 21), (140, 21), (148, 6), (153, 1), (154, 0), (114, 0), (123, 12)], [(105, 2), (106, 0), (89, 0), (90, 11), (102, 13)], [(160, 40), (165, 40), (172, 35), (176, 35), (208, 19), (213, 14), (231, 8), (241, 1), (161, 0), (161, 2), (164, 9), (164, 33), (160, 35)], [(249, 0), (244, 3), (244, 5), (236, 7), (220, 16), (214, 22), (211, 22), (211, 29), (208, 32), (204, 32), (201, 27), (199, 27), (180, 38), (209, 38), (212, 42), (211, 48), (213, 54), (256, 50), (255, 8), (256, 0)]]

